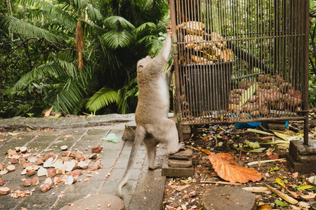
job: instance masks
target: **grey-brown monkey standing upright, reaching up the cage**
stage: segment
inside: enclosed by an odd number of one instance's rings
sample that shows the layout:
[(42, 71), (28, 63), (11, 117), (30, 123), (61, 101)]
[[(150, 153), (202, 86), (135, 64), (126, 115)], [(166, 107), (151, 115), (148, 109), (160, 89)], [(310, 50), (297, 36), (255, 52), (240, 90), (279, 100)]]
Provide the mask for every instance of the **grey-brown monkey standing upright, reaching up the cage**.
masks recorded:
[[(168, 30), (167, 30), (168, 31)], [(116, 195), (123, 197), (121, 188), (129, 179), (131, 169), (136, 162), (136, 155), (143, 142), (147, 153), (148, 168), (156, 169), (157, 144), (166, 144), (169, 154), (185, 149), (183, 142), (179, 143), (176, 123), (168, 118), (169, 87), (173, 66), (164, 73), (164, 68), (171, 54), (171, 31), (168, 31), (166, 41), (157, 57), (149, 55), (137, 63), (138, 104), (135, 120), (136, 133), (124, 176), (116, 188)]]

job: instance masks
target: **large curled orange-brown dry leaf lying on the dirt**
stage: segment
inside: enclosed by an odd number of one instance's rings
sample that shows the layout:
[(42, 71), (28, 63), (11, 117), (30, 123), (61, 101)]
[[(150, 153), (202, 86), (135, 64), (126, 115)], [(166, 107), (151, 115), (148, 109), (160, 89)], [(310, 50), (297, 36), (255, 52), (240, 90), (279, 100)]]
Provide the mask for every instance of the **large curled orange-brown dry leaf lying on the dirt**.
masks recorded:
[(228, 153), (209, 154), (209, 160), (216, 174), (225, 181), (246, 183), (262, 179), (260, 172), (253, 168), (244, 168), (237, 165), (234, 156)]

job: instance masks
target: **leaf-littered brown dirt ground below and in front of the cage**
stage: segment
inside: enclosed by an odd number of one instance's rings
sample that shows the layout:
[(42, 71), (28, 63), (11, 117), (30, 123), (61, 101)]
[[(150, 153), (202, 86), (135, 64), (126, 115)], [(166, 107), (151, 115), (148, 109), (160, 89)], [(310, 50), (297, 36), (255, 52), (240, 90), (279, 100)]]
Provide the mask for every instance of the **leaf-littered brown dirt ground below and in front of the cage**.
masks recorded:
[[(290, 122), (290, 125), (303, 130), (303, 122)], [(203, 209), (202, 197), (211, 188), (218, 186), (230, 186), (232, 188), (264, 187), (263, 183), (267, 183), (282, 193), (293, 197), (299, 203), (289, 204), (275, 193), (271, 193), (270, 190), (265, 190), (262, 193), (254, 193), (257, 209), (316, 209), (316, 172), (311, 174), (291, 172), (287, 160), (263, 162), (263, 160), (286, 158), (289, 143), (271, 143), (279, 140), (281, 139), (278, 137), (249, 132), (246, 129), (236, 128), (235, 125), (192, 127), (192, 136), (185, 139), (187, 147), (204, 148), (211, 153), (229, 153), (235, 157), (239, 166), (253, 167), (261, 172), (263, 179), (257, 182), (237, 183), (237, 185), (229, 183), (220, 179), (216, 174), (206, 153), (193, 149), (192, 160), (195, 165), (195, 174), (190, 178), (167, 179), (164, 209)], [(246, 141), (259, 143), (259, 150), (262, 149), (263, 151), (251, 152), (254, 149), (249, 146), (249, 143), (246, 144)], [(310, 141), (316, 141), (315, 121), (310, 122)], [(255, 161), (258, 161), (258, 164), (247, 165)], [(307, 179), (313, 176), (315, 176), (314, 185), (307, 182)], [(225, 184), (221, 182), (225, 182)], [(281, 186), (283, 185), (282, 182), (285, 188)]]

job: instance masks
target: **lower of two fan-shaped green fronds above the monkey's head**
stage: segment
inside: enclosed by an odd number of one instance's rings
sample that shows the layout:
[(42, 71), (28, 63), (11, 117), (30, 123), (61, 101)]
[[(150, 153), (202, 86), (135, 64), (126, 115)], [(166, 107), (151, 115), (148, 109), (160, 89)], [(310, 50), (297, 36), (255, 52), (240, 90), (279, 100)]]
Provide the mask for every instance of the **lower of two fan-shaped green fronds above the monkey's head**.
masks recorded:
[(125, 48), (135, 40), (135, 34), (126, 29), (111, 30), (102, 36), (110, 49)]

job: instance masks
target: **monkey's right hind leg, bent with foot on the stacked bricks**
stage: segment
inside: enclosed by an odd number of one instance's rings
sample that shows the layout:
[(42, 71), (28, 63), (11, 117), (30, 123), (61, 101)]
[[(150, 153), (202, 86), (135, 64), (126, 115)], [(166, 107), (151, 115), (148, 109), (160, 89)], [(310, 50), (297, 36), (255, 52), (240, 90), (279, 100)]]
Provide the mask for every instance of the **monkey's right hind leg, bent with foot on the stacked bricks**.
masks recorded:
[(168, 153), (173, 154), (180, 150), (185, 150), (185, 144), (183, 142), (179, 144), (176, 123), (173, 120), (166, 118), (164, 120), (164, 126), (167, 129), (166, 132), (164, 132), (164, 139), (166, 141)]

